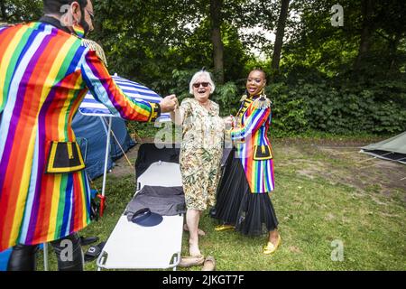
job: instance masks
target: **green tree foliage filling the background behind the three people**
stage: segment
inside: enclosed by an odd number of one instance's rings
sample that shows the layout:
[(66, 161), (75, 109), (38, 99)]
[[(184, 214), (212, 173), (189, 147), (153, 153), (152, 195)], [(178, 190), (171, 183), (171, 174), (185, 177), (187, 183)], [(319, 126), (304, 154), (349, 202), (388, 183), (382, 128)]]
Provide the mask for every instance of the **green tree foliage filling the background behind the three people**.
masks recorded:
[[(91, 38), (106, 51), (111, 73), (142, 82), (162, 96), (189, 95), (189, 79), (215, 71), (210, 0), (95, 0)], [(285, 1), (286, 2), (286, 1)], [(224, 84), (213, 99), (235, 113), (245, 78), (263, 68), (270, 83), (273, 129), (337, 134), (394, 134), (406, 129), (406, 4), (341, 0), (344, 25), (331, 23), (334, 0), (290, 1), (279, 72), (271, 59), (281, 0), (223, 0), (216, 13)], [(42, 1), (0, 0), (1, 20), (38, 19)], [(254, 55), (263, 52), (265, 59)], [(217, 63), (217, 67), (219, 64)], [(217, 79), (215, 74), (215, 79)], [(271, 83), (272, 79), (272, 83)]]

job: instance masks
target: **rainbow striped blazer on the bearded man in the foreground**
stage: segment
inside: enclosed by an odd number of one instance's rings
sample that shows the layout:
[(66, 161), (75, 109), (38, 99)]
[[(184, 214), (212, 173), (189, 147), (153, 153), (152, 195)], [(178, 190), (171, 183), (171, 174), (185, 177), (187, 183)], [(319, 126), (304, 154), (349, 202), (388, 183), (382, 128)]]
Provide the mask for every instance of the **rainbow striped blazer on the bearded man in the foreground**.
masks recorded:
[(74, 142), (72, 118), (91, 90), (115, 116), (152, 121), (96, 51), (50, 23), (0, 28), (0, 251), (68, 236), (90, 222), (84, 171), (44, 173), (52, 141)]

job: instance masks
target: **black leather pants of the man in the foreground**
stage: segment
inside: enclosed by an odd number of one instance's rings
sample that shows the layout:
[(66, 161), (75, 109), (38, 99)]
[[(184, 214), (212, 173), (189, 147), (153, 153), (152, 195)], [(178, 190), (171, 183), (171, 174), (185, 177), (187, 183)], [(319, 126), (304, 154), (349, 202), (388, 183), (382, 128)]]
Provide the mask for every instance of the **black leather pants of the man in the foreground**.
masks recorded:
[[(51, 242), (60, 271), (83, 271), (83, 252), (78, 234)], [(38, 245), (16, 245), (8, 261), (8, 271), (34, 271)]]

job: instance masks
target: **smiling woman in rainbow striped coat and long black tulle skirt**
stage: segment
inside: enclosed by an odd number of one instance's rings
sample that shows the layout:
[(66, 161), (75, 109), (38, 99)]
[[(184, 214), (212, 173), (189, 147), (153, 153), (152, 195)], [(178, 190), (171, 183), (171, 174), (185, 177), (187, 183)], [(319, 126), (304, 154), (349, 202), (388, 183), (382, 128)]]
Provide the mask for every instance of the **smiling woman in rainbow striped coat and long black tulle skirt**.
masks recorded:
[(252, 70), (246, 95), (230, 131), (234, 148), (217, 191), (213, 217), (217, 231), (235, 228), (245, 235), (268, 233), (264, 254), (272, 254), (281, 243), (278, 219), (269, 193), (274, 190), (272, 145), (268, 138), (271, 100), (266, 98), (263, 70)]

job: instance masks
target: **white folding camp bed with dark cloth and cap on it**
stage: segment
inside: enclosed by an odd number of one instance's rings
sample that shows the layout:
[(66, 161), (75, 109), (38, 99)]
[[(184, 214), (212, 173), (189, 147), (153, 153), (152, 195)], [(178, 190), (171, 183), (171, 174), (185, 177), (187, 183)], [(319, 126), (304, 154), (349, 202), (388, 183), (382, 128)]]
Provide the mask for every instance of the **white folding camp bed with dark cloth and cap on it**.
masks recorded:
[[(179, 163), (152, 163), (138, 177), (138, 191), (144, 185), (181, 186)], [(176, 270), (180, 263), (182, 233), (183, 214), (163, 216), (161, 224), (153, 227), (134, 224), (123, 214), (97, 258), (97, 269)]]

